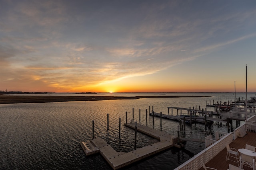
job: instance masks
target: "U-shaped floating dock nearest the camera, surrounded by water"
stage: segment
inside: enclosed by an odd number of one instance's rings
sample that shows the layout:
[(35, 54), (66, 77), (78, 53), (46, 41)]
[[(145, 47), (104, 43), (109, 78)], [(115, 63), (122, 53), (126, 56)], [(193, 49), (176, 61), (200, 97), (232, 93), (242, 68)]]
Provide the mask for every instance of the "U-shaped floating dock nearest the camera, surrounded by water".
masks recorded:
[[(124, 125), (135, 129), (135, 123), (125, 123)], [(110, 166), (116, 170), (161, 152), (165, 149), (169, 149), (170, 147), (173, 147), (174, 143), (178, 141), (177, 137), (164, 133), (163, 131), (151, 129), (150, 127), (141, 124), (137, 124), (137, 131), (154, 137), (160, 140), (160, 142), (133, 150), (131, 152), (117, 152), (101, 138), (92, 139), (91, 141), (87, 142), (81, 142), (80, 145), (86, 155), (100, 153), (110, 164)]]

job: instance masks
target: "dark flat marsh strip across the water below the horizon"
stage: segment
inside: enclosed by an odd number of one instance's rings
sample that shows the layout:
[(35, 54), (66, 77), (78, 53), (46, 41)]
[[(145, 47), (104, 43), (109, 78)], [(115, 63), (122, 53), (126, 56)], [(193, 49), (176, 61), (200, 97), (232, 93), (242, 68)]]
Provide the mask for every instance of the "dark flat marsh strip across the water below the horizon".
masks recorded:
[(49, 103), (49, 102), (74, 102), (74, 101), (99, 101), (99, 100), (131, 100), (140, 98), (200, 98), (210, 96), (8, 96), (0, 95), (0, 104), (18, 103)]

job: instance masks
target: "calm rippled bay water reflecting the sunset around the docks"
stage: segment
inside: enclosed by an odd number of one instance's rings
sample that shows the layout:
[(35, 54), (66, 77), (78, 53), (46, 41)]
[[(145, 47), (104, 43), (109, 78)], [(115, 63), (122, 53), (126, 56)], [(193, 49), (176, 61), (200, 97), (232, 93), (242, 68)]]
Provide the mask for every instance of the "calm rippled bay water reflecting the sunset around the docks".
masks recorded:
[[(54, 94), (50, 94), (54, 95)], [(58, 94), (67, 95), (67, 94)], [(81, 94), (79, 94), (81, 95)], [(95, 94), (99, 95), (99, 94)], [(101, 94), (115, 96), (146, 96), (145, 94)], [(159, 94), (150, 94), (159, 95)], [(172, 95), (172, 94), (167, 94)], [(187, 94), (174, 94), (173, 96)], [(134, 149), (134, 130), (124, 127), (126, 111), (128, 121), (134, 119), (153, 128), (152, 117), (146, 121), (146, 109), (168, 114), (168, 106), (206, 107), (206, 100), (234, 101), (234, 94), (189, 94), (191, 96), (214, 96), (202, 98), (150, 98), (138, 100), (109, 100), (86, 102), (56, 102), (42, 104), (1, 104), (0, 105), (0, 169), (111, 169), (100, 154), (86, 156), (80, 147), (81, 141), (92, 138), (92, 120), (95, 122), (94, 135), (104, 139), (115, 150), (129, 152)], [(248, 94), (254, 96), (255, 94)], [(86, 96), (86, 95), (84, 95)], [(88, 96), (88, 95), (87, 95)], [(92, 96), (92, 95), (90, 95)], [(245, 94), (236, 94), (244, 97)], [(208, 107), (207, 110), (214, 110)], [(110, 129), (106, 130), (107, 113)], [(176, 113), (176, 112), (175, 112)], [(118, 139), (119, 117), (121, 118), (121, 139)], [(233, 123), (234, 125), (235, 123)], [(178, 122), (162, 120), (162, 130), (176, 134)], [(160, 129), (160, 119), (155, 118), (154, 128)], [(186, 129), (190, 129), (189, 126)], [(192, 129), (204, 129), (204, 125), (193, 125)], [(214, 123), (212, 131), (227, 131), (226, 124)], [(157, 142), (156, 139), (137, 134), (137, 148)], [(202, 146), (202, 147), (200, 147)], [(174, 169), (204, 149), (204, 143), (187, 142), (184, 149), (172, 148), (132, 164), (124, 169)]]

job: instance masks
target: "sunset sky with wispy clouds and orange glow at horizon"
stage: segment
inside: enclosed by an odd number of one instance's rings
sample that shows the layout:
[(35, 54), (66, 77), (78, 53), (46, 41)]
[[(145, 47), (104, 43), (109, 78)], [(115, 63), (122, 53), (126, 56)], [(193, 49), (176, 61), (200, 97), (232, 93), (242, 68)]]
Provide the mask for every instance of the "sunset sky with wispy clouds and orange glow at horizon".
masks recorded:
[(256, 92), (256, 0), (0, 0), (0, 90)]

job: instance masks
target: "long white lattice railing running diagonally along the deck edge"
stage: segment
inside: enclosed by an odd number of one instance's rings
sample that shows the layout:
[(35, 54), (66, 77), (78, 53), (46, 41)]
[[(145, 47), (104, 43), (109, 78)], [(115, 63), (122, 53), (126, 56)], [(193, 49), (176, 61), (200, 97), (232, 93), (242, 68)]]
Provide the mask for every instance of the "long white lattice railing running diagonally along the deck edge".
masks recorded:
[[(234, 139), (236, 139), (236, 135), (240, 128), (245, 128), (245, 124), (241, 125), (240, 127), (236, 128), (234, 132), (228, 133), (220, 140), (216, 141), (208, 148), (202, 150), (198, 154), (196, 154), (193, 158), (189, 159), (188, 161), (184, 162), (174, 170), (187, 170), (193, 169), (198, 170), (203, 166), (203, 163), (206, 164), (209, 162), (214, 156), (216, 156), (220, 151), (226, 148), (227, 144), (230, 144)], [(210, 138), (210, 137), (209, 137)]]

